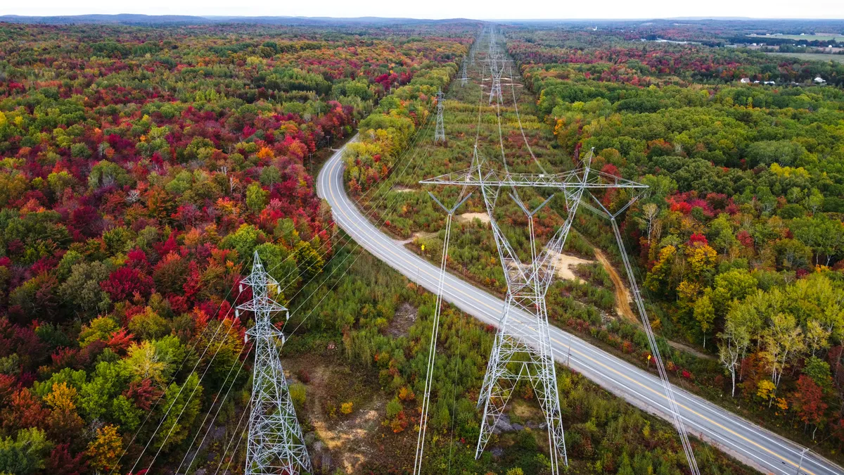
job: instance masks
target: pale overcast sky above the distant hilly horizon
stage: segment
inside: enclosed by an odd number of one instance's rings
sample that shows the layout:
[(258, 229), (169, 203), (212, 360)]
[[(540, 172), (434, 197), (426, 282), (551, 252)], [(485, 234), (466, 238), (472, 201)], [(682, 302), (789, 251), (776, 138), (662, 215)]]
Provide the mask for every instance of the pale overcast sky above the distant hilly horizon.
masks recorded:
[(844, 19), (844, 0), (31, 0), (4, 1), (0, 14), (190, 14), (239, 16), (332, 16), (470, 19), (642, 19), (672, 17), (753, 17)]

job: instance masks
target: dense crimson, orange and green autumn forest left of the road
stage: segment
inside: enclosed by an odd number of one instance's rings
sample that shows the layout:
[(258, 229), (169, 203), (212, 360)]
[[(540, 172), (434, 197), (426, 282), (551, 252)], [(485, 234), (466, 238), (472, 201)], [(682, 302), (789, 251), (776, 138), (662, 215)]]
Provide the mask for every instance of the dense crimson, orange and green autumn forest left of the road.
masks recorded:
[(474, 29), (0, 25), (0, 472), (175, 469), (246, 385), (252, 253), (283, 303), (322, 273), (314, 170)]

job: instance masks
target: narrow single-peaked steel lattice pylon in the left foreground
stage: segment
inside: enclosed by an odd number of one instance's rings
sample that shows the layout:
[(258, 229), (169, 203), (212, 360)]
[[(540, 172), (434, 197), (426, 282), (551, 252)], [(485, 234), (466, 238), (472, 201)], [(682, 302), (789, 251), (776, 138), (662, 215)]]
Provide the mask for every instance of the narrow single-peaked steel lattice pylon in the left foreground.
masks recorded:
[(246, 331), (255, 347), (255, 366), (245, 473), (292, 475), (311, 472), (311, 458), (279, 359), (284, 334), (270, 319), (276, 312), (287, 313), (287, 308), (271, 297), (271, 292), (279, 292), (279, 282), (264, 270), (256, 252), (252, 274), (243, 283), (252, 287), (252, 300), (237, 308), (255, 314), (255, 325)]

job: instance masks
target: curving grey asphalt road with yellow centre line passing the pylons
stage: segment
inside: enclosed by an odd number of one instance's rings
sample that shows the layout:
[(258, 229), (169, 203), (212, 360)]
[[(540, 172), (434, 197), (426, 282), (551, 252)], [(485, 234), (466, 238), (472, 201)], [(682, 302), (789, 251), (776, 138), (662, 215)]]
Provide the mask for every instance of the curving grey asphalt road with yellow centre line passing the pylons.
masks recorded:
[[(411, 281), (436, 292), (440, 273), (436, 265), (410, 252), (402, 243), (373, 226), (349, 199), (343, 183), (343, 150), (340, 149), (326, 162), (317, 178), (317, 193), (331, 205), (334, 221), (378, 259)], [(504, 305), (500, 298), (452, 274), (446, 275), (443, 298), (490, 325), (497, 325)], [(526, 317), (521, 315), (521, 318)], [(567, 363), (571, 369), (637, 407), (668, 419), (668, 401), (656, 376), (554, 326), (551, 327), (551, 342), (558, 362)], [(844, 474), (844, 469), (811, 452), (803, 458), (798, 472), (803, 451), (801, 445), (684, 390), (675, 389), (675, 399), (690, 434), (717, 445), (761, 472), (776, 475)]]

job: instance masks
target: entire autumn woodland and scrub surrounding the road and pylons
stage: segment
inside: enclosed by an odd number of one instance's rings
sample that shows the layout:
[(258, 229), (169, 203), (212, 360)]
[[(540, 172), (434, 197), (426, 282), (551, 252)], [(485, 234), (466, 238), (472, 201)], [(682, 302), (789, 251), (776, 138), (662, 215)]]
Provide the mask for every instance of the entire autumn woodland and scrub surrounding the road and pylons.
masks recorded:
[[(282, 356), (317, 472), (406, 471), (435, 303), (317, 197), (322, 163), (358, 131), (348, 193), (432, 260), (444, 216), (417, 183), (466, 167), (476, 136), (517, 168), (567, 170), (594, 149), (593, 168), (647, 184), (621, 230), (672, 377), (841, 461), (844, 56), (816, 36), (844, 23), (500, 25), (514, 63), (498, 128), (478, 118), (482, 87), (459, 85), (465, 65), (483, 77), (469, 63), (483, 28), (0, 22), (0, 473), (240, 473), (245, 448), (227, 444), (249, 401), (252, 321), (234, 308), (252, 298), (254, 253), (294, 310), (273, 318), (295, 331)], [(775, 34), (776, 51), (753, 45)], [(438, 90), (446, 145), (432, 144)], [(527, 252), (521, 216), (505, 215)], [(560, 223), (539, 215), (538, 235)], [(452, 271), (502, 292), (489, 227), (455, 226)], [(551, 287), (552, 324), (652, 369), (619, 310), (609, 224), (584, 213), (574, 227), (566, 253), (589, 263)], [(544, 473), (529, 387), (513, 396), (522, 429), (474, 460), (495, 330), (456, 308), (441, 325), (431, 470)], [(668, 423), (558, 374), (577, 472), (683, 473)], [(366, 423), (360, 446), (329, 430)], [(751, 472), (695, 450), (706, 473)]]

